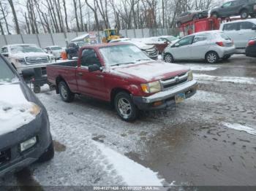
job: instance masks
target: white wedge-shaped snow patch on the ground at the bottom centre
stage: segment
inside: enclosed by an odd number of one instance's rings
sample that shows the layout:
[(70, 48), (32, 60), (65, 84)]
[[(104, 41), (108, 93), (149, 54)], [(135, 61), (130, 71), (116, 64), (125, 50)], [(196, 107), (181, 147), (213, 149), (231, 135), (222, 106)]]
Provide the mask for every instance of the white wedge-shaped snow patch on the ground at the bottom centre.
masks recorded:
[(116, 169), (117, 174), (122, 176), (124, 182), (132, 186), (162, 186), (164, 179), (159, 179), (157, 173), (151, 169), (144, 167), (128, 157), (119, 154), (118, 152), (105, 147), (103, 144), (95, 142), (102, 155), (107, 157), (109, 163)]

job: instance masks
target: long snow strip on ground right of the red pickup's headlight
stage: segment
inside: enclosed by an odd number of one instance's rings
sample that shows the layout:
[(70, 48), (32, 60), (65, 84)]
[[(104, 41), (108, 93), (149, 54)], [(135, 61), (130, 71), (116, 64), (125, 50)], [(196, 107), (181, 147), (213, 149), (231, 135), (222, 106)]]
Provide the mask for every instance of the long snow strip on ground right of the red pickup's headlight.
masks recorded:
[(197, 80), (206, 80), (206, 81), (217, 81), (217, 82), (233, 82), (237, 84), (249, 84), (255, 85), (256, 79), (253, 77), (216, 77), (207, 74), (194, 74), (195, 79)]

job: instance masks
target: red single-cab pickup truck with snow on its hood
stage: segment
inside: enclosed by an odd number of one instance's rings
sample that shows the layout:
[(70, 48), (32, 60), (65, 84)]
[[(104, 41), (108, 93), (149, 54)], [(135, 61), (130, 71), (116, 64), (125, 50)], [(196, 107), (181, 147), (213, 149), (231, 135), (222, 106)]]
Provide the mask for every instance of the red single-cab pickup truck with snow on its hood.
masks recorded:
[(163, 109), (197, 90), (192, 71), (153, 61), (127, 43), (82, 47), (78, 61), (47, 66), (47, 73), (63, 101), (73, 101), (75, 94), (109, 101), (125, 121), (135, 120), (139, 109)]

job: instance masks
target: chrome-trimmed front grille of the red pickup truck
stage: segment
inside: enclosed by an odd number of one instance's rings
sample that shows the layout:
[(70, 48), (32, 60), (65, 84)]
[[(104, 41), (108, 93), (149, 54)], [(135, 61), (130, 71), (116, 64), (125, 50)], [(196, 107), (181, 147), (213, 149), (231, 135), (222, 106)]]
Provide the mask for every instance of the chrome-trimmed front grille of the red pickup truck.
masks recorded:
[(188, 78), (188, 74), (183, 73), (183, 74), (177, 75), (176, 77), (162, 79), (160, 80), (160, 83), (162, 85), (162, 90), (170, 90), (172, 87), (175, 87), (176, 85), (187, 82), (187, 78)]

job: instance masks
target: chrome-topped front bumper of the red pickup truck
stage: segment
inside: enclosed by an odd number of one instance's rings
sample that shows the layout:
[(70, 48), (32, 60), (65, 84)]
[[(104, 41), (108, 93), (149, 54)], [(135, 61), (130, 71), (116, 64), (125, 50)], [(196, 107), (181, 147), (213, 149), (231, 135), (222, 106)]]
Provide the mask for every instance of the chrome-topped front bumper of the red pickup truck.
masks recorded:
[[(190, 82), (185, 82), (181, 85), (177, 85), (170, 90), (165, 90), (148, 97), (133, 96), (133, 101), (139, 109), (142, 110), (155, 110), (164, 109), (168, 106), (176, 104), (175, 96), (178, 93), (185, 93), (186, 98), (190, 98), (197, 91), (197, 82), (192, 80)], [(154, 103), (161, 101), (162, 104), (154, 106)]]

